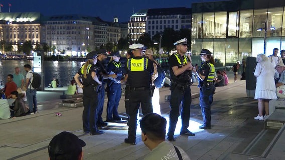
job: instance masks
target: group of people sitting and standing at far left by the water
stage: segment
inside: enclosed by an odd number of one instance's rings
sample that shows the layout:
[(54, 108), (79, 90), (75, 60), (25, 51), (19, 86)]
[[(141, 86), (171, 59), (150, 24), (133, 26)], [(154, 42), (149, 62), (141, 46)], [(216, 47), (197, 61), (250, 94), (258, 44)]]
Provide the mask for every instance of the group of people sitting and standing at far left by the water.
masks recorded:
[(20, 73), (19, 67), (15, 68), (14, 74), (7, 75), (5, 87), (1, 90), (0, 119), (38, 113), (37, 90), (31, 85), (33, 81), (31, 65), (24, 65), (24, 70), (27, 72), (26, 78)]

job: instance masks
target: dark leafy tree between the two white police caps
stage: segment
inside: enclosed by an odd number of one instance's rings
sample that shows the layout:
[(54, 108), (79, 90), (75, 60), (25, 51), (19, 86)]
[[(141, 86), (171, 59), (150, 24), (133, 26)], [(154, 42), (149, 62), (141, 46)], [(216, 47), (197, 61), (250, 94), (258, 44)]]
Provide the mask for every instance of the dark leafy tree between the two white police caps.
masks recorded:
[(161, 39), (161, 46), (167, 52), (170, 52), (174, 49), (173, 43), (179, 40), (179, 32), (174, 31), (173, 28), (165, 28), (163, 31), (163, 36)]

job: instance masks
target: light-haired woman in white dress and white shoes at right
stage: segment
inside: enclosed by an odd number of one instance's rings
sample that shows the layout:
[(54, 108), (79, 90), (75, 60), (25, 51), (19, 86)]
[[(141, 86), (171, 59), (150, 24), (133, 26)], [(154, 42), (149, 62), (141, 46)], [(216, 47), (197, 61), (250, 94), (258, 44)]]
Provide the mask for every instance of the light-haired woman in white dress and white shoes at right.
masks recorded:
[[(258, 63), (254, 71), (254, 76), (257, 77), (254, 99), (258, 99), (259, 114), (254, 119), (264, 120), (269, 115), (269, 100), (277, 99), (274, 81), (275, 69), (264, 54), (257, 55), (256, 62)], [(263, 116), (264, 110), (265, 116)]]

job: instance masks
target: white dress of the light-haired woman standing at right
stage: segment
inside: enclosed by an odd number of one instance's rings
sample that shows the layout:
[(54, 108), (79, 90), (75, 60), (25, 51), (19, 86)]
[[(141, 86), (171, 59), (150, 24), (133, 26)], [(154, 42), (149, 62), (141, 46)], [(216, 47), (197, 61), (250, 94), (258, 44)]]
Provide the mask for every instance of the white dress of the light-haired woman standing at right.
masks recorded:
[(257, 77), (254, 99), (277, 99), (273, 64), (270, 61), (257, 63), (254, 75)]

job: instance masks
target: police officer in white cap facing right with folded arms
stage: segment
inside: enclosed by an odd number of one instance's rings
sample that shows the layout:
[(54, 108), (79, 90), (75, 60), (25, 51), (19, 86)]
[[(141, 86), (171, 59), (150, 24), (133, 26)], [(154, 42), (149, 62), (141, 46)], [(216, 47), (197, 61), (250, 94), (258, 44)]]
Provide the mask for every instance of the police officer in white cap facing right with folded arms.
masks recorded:
[(168, 140), (175, 141), (174, 131), (179, 116), (179, 106), (181, 107), (182, 126), (180, 135), (195, 136), (187, 128), (189, 127), (190, 119), (190, 104), (191, 104), (191, 77), (192, 64), (190, 59), (185, 55), (187, 52), (187, 39), (181, 39), (174, 43), (177, 52), (169, 57), (168, 63), (170, 67), (170, 112), (169, 112), (169, 128)]

